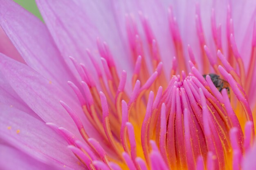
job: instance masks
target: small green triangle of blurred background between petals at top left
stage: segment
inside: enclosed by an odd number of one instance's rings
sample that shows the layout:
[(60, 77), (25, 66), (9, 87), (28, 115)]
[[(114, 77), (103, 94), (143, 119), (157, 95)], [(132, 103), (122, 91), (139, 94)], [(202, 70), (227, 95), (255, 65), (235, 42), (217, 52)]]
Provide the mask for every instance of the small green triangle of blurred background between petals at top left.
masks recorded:
[(27, 9), (29, 12), (33, 13), (34, 15), (36, 15), (38, 18), (40, 18), (40, 20), (43, 21), (43, 18), (40, 14), (40, 12), (38, 11), (38, 8), (36, 6), (36, 2), (35, 0), (13, 0), (14, 2), (17, 2), (18, 4), (20, 4), (23, 8)]

